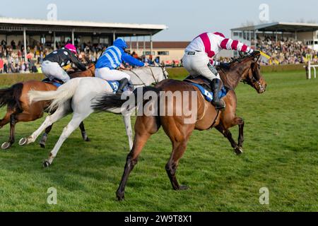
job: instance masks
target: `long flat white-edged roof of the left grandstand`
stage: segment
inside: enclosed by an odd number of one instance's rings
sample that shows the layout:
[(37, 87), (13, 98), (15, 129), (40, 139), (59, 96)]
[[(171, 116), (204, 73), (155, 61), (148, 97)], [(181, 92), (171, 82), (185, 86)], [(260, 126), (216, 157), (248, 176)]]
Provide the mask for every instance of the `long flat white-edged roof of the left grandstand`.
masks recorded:
[(155, 35), (167, 29), (166, 25), (134, 23), (99, 23), (71, 20), (30, 20), (18, 18), (0, 18), (0, 32), (20, 32), (26, 28), (32, 31), (57, 32), (116, 32), (121, 36)]

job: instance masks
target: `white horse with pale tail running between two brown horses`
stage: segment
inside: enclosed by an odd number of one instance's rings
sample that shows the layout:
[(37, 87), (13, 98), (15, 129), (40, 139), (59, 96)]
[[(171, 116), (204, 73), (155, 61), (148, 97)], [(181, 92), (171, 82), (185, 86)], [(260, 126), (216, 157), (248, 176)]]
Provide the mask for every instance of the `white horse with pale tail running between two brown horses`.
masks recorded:
[[(125, 72), (129, 73), (131, 76), (131, 83), (134, 85), (134, 88), (159, 83), (168, 76), (166, 69), (161, 66), (147, 66)], [(61, 133), (59, 141), (57, 141), (53, 150), (49, 154), (49, 158), (43, 162), (44, 167), (49, 167), (52, 165), (54, 157), (57, 156), (57, 153), (64, 141), (66, 141), (71, 133), (73, 133), (81, 121), (94, 112), (94, 109), (90, 106), (94, 98), (98, 95), (102, 95), (103, 93), (113, 93), (113, 89), (110, 83), (101, 78), (74, 78), (68, 83), (61, 85), (56, 91), (42, 92), (30, 90), (28, 95), (31, 102), (52, 100), (49, 108), (57, 108), (57, 110), (54, 114), (49, 115), (39, 129), (37, 129), (31, 136), (22, 138), (20, 140), (20, 145), (28, 145), (35, 142), (44, 129), (65, 117), (67, 114), (73, 112), (71, 121), (69, 121), (69, 124), (64, 128), (63, 133)], [(121, 114), (120, 108), (112, 109), (109, 112)], [(133, 145), (131, 115), (123, 114), (122, 117), (124, 119), (126, 134), (129, 139), (129, 150), (131, 150)]]

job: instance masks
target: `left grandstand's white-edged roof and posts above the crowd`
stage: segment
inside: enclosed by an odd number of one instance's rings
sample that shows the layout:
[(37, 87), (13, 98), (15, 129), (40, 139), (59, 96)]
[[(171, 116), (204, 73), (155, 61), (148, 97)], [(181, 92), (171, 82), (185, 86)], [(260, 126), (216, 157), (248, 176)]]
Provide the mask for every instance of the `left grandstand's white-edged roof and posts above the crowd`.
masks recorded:
[[(152, 51), (153, 35), (165, 29), (166, 25), (0, 18), (0, 41), (10, 44), (13, 40), (23, 46), (40, 42), (56, 49), (57, 42), (90, 42), (109, 46), (117, 37), (128, 37), (129, 40), (141, 37), (149, 40)], [(26, 56), (26, 48), (24, 50)]]

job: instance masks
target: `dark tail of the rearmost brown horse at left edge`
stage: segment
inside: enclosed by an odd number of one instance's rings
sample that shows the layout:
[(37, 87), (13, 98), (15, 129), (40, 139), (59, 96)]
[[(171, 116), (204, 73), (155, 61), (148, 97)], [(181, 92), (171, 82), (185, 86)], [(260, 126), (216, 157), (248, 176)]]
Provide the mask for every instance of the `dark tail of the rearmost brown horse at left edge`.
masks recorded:
[(23, 83), (16, 83), (11, 88), (0, 90), (0, 107), (8, 106), (11, 109), (20, 109), (20, 96), (23, 89)]

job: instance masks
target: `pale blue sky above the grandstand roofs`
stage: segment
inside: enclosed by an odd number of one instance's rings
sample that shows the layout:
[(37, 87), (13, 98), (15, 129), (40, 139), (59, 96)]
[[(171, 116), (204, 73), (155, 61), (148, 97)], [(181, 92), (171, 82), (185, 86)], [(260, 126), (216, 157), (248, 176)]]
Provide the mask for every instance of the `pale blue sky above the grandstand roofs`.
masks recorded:
[(167, 30), (153, 37), (156, 41), (189, 41), (201, 32), (210, 31), (229, 36), (231, 28), (259, 24), (261, 4), (269, 6), (269, 23), (318, 23), (317, 0), (0, 0), (0, 16), (47, 19), (48, 4), (57, 5), (58, 20), (167, 25)]

